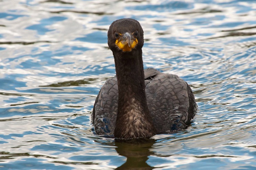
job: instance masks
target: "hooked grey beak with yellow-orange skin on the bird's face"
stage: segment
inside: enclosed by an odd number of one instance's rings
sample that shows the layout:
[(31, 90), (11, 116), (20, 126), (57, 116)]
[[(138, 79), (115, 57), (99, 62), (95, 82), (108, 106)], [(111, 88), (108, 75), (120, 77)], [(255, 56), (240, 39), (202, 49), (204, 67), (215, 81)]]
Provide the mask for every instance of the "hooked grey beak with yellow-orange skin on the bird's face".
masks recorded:
[(116, 45), (123, 51), (131, 51), (138, 43), (136, 37), (126, 32), (116, 39)]

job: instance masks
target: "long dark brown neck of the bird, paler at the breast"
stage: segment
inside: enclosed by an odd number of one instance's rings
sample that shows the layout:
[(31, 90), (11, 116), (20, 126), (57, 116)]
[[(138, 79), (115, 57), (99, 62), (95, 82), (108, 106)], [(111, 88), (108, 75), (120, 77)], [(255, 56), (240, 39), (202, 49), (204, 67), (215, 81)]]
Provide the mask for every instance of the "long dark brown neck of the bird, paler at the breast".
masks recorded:
[(130, 139), (156, 134), (147, 107), (142, 50), (114, 53), (118, 83), (118, 109), (114, 135)]

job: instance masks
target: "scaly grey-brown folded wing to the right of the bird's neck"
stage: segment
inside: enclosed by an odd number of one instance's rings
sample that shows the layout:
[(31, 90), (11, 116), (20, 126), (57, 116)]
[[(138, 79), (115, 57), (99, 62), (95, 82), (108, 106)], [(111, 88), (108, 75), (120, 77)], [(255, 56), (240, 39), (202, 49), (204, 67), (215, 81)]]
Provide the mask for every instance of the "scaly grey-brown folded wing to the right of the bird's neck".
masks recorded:
[(196, 111), (188, 84), (175, 74), (161, 72), (150, 79), (145, 87), (146, 98), (157, 133), (185, 129)]

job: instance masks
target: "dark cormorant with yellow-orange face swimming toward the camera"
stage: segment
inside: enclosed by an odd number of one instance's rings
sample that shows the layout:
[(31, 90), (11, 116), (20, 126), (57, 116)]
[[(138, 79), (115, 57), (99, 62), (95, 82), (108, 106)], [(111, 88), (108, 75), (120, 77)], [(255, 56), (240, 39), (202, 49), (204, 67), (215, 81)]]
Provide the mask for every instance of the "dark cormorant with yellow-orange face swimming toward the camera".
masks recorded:
[(95, 100), (92, 123), (98, 135), (149, 138), (186, 129), (197, 112), (189, 85), (175, 74), (143, 68), (143, 29), (137, 20), (114, 21), (108, 31), (116, 76)]

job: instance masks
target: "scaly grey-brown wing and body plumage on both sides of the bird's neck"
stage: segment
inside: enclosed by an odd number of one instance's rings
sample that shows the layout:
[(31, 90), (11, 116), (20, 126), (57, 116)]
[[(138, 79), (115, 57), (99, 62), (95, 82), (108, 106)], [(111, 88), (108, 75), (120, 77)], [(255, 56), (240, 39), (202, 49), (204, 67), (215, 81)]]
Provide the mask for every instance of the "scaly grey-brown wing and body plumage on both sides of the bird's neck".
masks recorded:
[[(185, 129), (195, 116), (197, 105), (189, 85), (175, 74), (153, 68), (144, 70), (147, 106), (157, 133)], [(109, 78), (96, 98), (92, 122), (99, 135), (113, 135), (118, 107), (116, 77)]]

